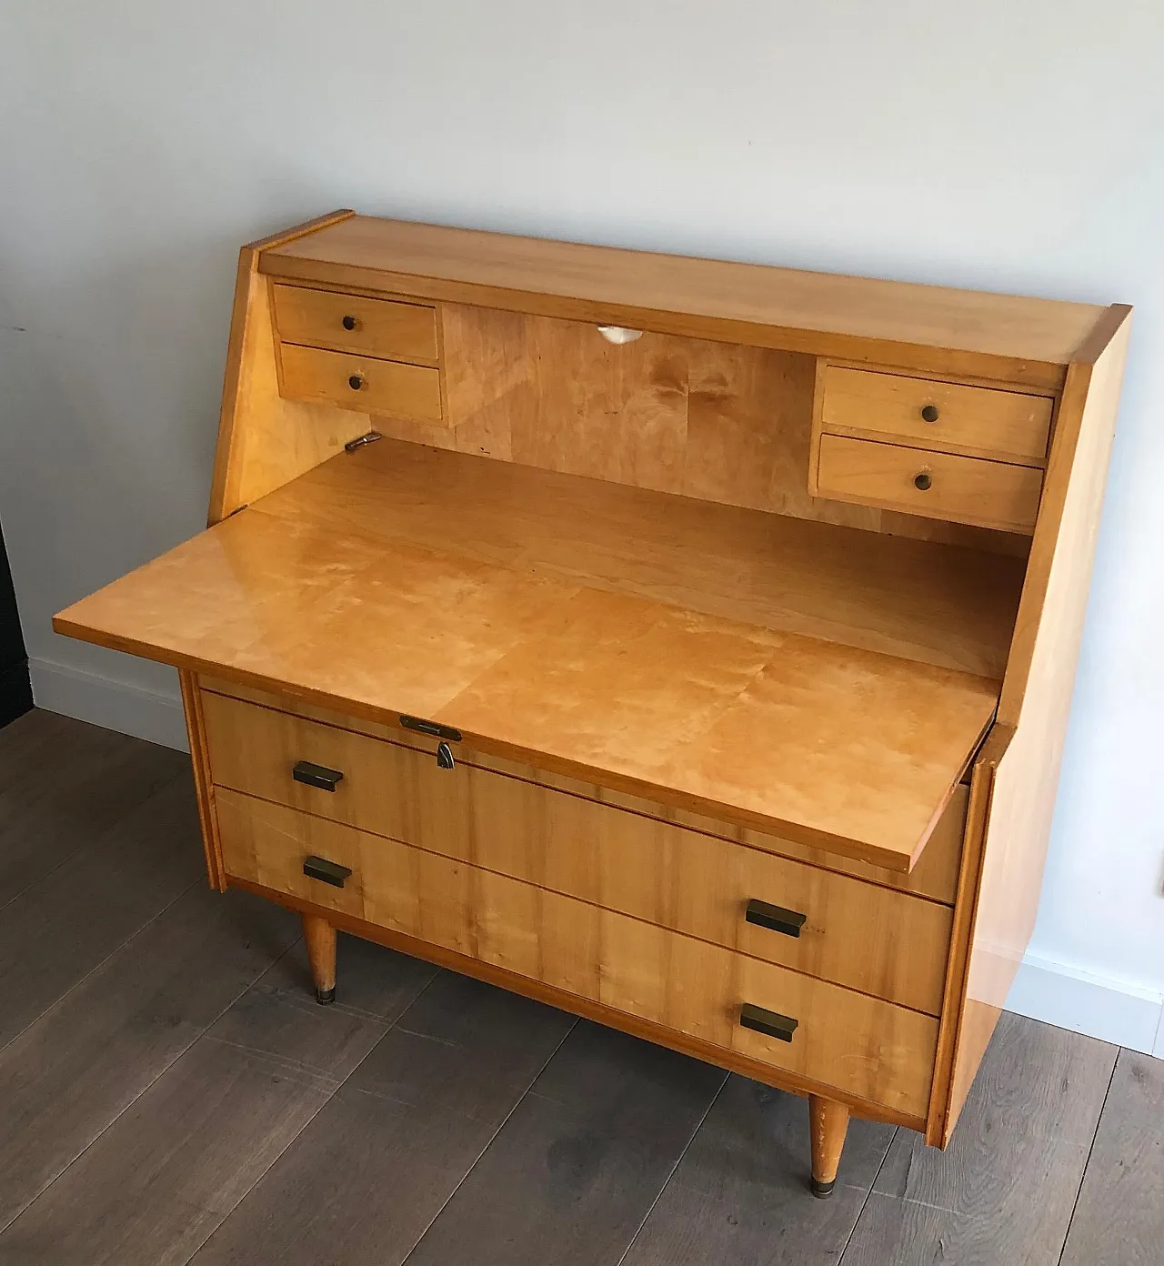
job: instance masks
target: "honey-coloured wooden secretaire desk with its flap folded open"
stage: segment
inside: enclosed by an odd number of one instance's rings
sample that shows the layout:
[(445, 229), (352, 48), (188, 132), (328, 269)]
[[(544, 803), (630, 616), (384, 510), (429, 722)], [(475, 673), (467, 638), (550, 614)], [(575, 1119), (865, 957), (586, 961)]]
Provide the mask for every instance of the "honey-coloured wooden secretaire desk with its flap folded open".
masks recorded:
[(1129, 309), (338, 211), (243, 249), (176, 665), (210, 882), (950, 1137), (1026, 946)]

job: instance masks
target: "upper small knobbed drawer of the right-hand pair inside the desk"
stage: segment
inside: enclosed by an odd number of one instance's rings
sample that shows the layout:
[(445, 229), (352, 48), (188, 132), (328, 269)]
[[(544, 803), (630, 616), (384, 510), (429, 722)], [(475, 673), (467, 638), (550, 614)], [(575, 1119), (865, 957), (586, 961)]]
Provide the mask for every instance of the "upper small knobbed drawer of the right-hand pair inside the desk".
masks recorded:
[(821, 425), (926, 448), (1041, 466), (1051, 427), (1044, 396), (836, 365), (822, 371)]

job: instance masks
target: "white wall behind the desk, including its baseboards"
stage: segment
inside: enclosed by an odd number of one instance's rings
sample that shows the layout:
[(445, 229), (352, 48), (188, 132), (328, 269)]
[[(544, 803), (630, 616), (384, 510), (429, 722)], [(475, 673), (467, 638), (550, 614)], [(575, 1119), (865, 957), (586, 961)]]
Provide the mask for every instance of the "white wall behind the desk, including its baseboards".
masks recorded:
[(237, 249), (333, 206), (1132, 303), (1015, 1005), (1150, 1050), (1161, 48), (1151, 0), (4, 0), (0, 517), (38, 699), (182, 741), (171, 674), (49, 617), (199, 529)]

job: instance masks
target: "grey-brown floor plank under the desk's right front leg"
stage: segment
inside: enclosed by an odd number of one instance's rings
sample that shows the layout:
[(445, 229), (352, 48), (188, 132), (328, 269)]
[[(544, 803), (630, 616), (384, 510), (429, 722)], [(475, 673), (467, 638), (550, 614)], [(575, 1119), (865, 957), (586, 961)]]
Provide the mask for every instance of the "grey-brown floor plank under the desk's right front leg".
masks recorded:
[(835, 1263), (886, 1157), (892, 1125), (849, 1125), (829, 1200), (808, 1194), (808, 1101), (729, 1077), (625, 1266)]

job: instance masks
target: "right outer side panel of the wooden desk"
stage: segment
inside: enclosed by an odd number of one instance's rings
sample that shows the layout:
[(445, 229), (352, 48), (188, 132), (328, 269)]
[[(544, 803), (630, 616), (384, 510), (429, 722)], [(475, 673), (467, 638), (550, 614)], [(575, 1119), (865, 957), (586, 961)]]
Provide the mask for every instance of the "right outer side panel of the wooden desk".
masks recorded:
[[(1073, 460), (1059, 456), (1067, 463), (1059, 475), (1064, 486), (1050, 494), (1062, 498), (1059, 530), (1030, 643), (1018, 724), (991, 789), (943, 1142), (958, 1122), (1035, 927), (1129, 329), (1125, 315), (1094, 365), (1073, 365), (1068, 375), (1064, 403), (1083, 403), (1077, 419), (1060, 414), (1059, 425), (1074, 427), (1078, 439)], [(1003, 708), (1006, 703), (1003, 690)]]

